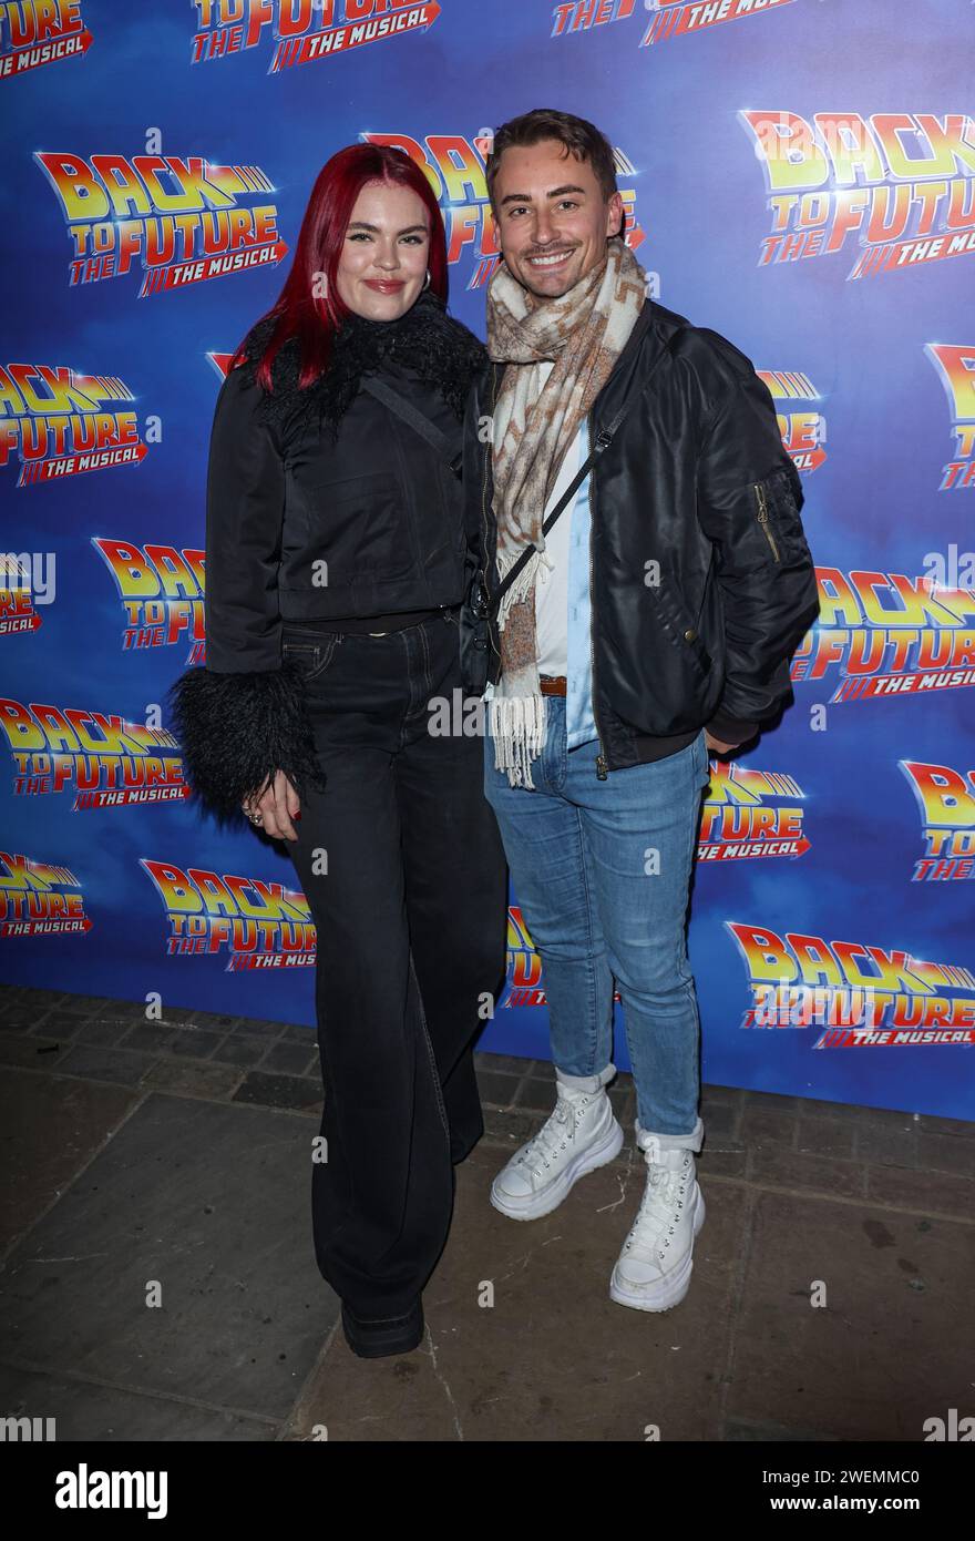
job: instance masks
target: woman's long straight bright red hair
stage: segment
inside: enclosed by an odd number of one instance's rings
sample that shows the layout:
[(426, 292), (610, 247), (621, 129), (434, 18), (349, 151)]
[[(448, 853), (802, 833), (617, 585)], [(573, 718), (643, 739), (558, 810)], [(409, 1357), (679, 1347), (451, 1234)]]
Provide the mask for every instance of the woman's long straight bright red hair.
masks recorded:
[[(339, 296), (336, 273), (356, 199), (368, 182), (405, 186), (420, 199), (430, 216), (430, 288), (447, 304), (447, 236), (425, 171), (404, 149), (347, 145), (319, 171), (299, 230), (291, 271), (277, 300), (260, 317), (277, 317), (256, 374), (268, 391), (274, 356), (288, 337), (299, 339), (300, 387), (311, 384), (328, 367), (333, 337), (350, 314)], [(322, 273), (327, 277), (327, 297), (314, 293), (316, 274)], [(243, 342), (231, 359), (231, 368), (246, 358)]]

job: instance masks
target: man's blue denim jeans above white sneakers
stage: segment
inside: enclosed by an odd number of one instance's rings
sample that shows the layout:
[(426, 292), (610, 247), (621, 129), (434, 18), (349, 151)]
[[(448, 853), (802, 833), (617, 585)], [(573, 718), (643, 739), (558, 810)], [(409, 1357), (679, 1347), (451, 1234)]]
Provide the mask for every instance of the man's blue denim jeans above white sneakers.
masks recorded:
[(494, 769), (485, 732), (484, 791), (542, 960), (551, 1056), (567, 1076), (605, 1069), (616, 980), (639, 1123), (653, 1134), (689, 1134), (698, 1119), (701, 1023), (685, 915), (709, 783), (704, 729), (678, 754), (601, 781), (599, 744), (567, 752), (565, 700), (547, 697), (547, 709), (534, 789), (513, 787)]

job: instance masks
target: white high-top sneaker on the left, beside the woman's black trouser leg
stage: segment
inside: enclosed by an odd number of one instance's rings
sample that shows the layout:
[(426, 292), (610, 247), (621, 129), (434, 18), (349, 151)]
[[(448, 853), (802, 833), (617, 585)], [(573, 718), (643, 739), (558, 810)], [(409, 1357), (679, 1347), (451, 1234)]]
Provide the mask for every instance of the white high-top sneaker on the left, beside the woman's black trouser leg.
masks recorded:
[(622, 1130), (605, 1093), (615, 1074), (616, 1068), (607, 1065), (599, 1076), (587, 1077), (593, 1089), (584, 1089), (567, 1085), (556, 1068), (555, 1113), (494, 1177), (491, 1204), (496, 1210), (511, 1220), (550, 1214), (579, 1177), (619, 1154)]

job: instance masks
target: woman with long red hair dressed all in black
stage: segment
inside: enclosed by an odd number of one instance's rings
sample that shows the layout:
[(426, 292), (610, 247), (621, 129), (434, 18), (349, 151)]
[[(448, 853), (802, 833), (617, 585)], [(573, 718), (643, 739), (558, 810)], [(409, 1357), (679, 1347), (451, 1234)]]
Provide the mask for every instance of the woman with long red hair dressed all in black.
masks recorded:
[(311, 908), (314, 1247), (364, 1356), (422, 1338), (453, 1165), (484, 1133), (473, 1039), (505, 969), (504, 854), (456, 710), (457, 452), (484, 359), (447, 314), (422, 168), (340, 149), (217, 398), (206, 666), (171, 690), (197, 801), (283, 840)]

